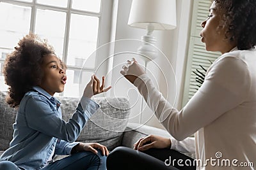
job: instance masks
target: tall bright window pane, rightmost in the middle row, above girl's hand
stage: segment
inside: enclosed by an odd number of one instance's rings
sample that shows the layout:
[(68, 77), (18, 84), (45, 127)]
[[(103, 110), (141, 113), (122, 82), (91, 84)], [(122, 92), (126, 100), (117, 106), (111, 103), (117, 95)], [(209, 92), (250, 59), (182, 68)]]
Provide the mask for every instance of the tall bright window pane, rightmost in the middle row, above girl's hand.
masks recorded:
[[(71, 15), (70, 36), (68, 43), (67, 64), (71, 66), (95, 67), (95, 55), (90, 57), (97, 48), (99, 18), (84, 15)], [(90, 58), (89, 58), (90, 57)]]

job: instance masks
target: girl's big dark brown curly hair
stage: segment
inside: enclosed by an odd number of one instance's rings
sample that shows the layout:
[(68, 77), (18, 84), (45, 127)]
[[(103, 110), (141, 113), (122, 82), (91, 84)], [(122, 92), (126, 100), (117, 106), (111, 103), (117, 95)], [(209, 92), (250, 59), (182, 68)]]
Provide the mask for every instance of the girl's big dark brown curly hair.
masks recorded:
[(6, 102), (12, 108), (19, 106), (22, 97), (31, 87), (40, 85), (43, 57), (51, 53), (54, 53), (54, 49), (45, 39), (30, 33), (20, 39), (13, 52), (7, 55), (3, 73), (6, 85), (9, 86)]

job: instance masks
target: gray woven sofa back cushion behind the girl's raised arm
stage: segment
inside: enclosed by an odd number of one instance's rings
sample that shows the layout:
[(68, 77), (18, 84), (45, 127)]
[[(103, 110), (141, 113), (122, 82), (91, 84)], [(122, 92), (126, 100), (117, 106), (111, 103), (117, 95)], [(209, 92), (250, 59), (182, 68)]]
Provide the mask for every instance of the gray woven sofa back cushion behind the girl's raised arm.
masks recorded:
[[(68, 121), (76, 110), (79, 99), (59, 97), (63, 119)], [(84, 143), (98, 142), (112, 150), (122, 143), (123, 132), (127, 126), (130, 108), (129, 102), (123, 97), (100, 97), (94, 101), (100, 105), (86, 123), (77, 141)]]

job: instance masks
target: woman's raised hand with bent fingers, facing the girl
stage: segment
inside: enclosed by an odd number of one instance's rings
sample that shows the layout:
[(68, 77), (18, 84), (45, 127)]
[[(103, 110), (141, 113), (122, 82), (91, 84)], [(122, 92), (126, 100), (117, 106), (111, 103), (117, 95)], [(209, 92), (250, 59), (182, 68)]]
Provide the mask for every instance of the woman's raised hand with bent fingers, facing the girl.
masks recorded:
[(127, 60), (127, 66), (123, 66), (120, 71), (127, 80), (129, 80), (132, 84), (140, 76), (141, 74), (145, 74), (143, 68), (138, 64), (138, 62), (132, 58), (132, 60)]

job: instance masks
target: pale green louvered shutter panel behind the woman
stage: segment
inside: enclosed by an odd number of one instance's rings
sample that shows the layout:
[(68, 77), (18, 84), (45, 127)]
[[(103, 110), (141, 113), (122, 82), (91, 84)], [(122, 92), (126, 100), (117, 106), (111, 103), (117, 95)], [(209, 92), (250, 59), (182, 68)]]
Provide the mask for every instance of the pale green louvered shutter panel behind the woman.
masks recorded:
[(204, 73), (204, 70), (199, 65), (208, 69), (211, 66), (211, 62), (221, 55), (219, 52), (207, 52), (204, 43), (201, 42), (201, 23), (209, 15), (210, 6), (210, 0), (194, 0), (182, 106), (188, 103), (189, 99), (191, 99), (198, 89), (197, 85), (199, 83), (196, 82), (196, 75), (193, 71), (198, 69)]

